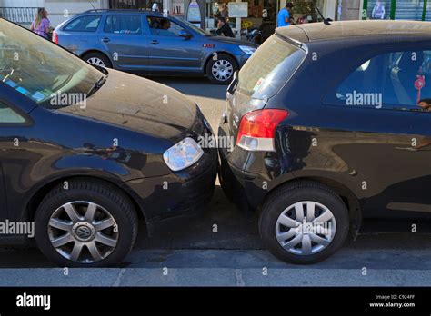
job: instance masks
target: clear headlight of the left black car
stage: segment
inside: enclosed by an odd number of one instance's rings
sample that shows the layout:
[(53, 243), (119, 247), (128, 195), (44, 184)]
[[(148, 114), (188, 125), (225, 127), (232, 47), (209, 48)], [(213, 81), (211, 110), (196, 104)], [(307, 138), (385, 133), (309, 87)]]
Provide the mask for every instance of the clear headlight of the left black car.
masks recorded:
[(197, 162), (204, 151), (194, 139), (187, 137), (163, 153), (165, 163), (172, 171), (183, 170)]

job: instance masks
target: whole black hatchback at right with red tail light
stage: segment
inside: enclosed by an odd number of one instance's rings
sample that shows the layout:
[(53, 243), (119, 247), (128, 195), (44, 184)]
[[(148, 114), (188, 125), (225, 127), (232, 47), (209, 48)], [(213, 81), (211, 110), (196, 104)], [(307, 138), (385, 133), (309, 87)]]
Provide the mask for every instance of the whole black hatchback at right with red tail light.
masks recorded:
[(431, 211), (431, 24), (277, 28), (228, 88), (221, 183), (286, 262), (318, 262), (365, 217)]

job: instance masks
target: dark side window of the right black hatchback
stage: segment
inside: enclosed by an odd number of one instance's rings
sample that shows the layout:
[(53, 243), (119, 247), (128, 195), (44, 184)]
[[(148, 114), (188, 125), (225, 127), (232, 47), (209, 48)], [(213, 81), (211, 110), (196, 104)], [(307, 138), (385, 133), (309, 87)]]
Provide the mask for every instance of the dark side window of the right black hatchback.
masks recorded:
[(376, 109), (431, 111), (430, 79), (431, 51), (379, 54), (349, 74), (329, 101)]

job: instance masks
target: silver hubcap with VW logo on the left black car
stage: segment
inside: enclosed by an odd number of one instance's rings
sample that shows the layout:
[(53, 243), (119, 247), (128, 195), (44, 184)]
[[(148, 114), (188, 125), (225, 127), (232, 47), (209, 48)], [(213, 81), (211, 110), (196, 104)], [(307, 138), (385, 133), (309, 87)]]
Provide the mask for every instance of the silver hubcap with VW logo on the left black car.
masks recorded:
[(114, 252), (118, 226), (110, 212), (93, 202), (68, 202), (55, 210), (48, 236), (55, 250), (73, 262), (99, 262)]

